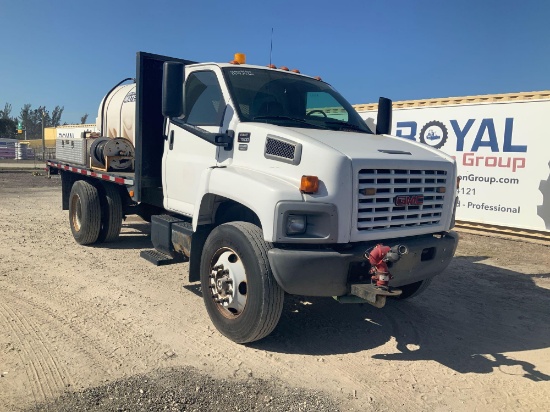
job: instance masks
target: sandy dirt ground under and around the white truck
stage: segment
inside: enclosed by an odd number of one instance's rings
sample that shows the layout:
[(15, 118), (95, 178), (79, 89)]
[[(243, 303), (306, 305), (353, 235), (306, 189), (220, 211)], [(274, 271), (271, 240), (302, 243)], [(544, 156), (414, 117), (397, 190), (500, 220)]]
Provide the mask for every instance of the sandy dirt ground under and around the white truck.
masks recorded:
[[(30, 173), (0, 173), (0, 216), (1, 411), (48, 409), (139, 376), (147, 388), (189, 368), (225, 382), (218, 401), (235, 382), (237, 400), (251, 387), (273, 388), (275, 401), (298, 388), (341, 410), (550, 409), (548, 246), (461, 234), (420, 297), (376, 309), (288, 296), (274, 333), (243, 346), (214, 329), (186, 264), (139, 257), (151, 242), (138, 218), (118, 243), (79, 246), (59, 180)], [(76, 409), (120, 408), (100, 398)]]

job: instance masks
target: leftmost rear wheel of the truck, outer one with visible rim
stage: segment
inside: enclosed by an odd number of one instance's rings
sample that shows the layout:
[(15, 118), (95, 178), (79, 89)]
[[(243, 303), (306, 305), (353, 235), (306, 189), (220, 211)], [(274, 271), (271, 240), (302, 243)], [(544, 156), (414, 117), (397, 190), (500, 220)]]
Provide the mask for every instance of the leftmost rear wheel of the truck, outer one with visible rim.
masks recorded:
[(84, 180), (77, 180), (71, 188), (69, 223), (77, 243), (89, 245), (97, 241), (101, 229), (99, 192)]

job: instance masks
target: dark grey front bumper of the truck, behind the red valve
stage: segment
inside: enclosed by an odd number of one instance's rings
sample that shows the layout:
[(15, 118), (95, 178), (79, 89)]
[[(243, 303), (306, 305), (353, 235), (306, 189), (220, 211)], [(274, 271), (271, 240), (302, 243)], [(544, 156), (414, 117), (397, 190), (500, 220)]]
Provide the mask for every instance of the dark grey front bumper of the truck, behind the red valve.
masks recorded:
[[(357, 277), (370, 278), (364, 254), (380, 242), (358, 242), (343, 250), (335, 248), (274, 248), (268, 252), (275, 279), (293, 295), (343, 296)], [(454, 231), (440, 236), (424, 235), (384, 240), (388, 246), (405, 245), (409, 252), (390, 267), (390, 285), (399, 287), (431, 278), (451, 262), (458, 245)], [(298, 246), (298, 245), (295, 245)], [(353, 279), (352, 279), (353, 277)]]

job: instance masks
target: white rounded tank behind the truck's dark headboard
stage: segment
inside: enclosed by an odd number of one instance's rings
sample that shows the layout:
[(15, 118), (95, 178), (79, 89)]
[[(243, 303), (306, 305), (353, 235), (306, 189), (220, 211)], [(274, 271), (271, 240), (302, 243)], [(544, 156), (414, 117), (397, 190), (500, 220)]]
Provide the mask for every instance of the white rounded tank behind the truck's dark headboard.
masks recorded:
[(103, 136), (124, 137), (135, 144), (135, 120), (136, 85), (132, 83), (117, 87), (103, 98), (99, 105), (96, 125), (98, 130), (103, 130)]

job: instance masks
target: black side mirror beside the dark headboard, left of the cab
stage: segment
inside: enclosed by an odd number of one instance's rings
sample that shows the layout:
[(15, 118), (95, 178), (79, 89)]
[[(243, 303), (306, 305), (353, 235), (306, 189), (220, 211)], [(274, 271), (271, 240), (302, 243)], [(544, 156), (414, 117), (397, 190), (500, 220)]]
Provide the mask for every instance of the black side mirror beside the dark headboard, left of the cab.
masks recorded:
[(167, 118), (183, 114), (184, 65), (165, 62), (162, 74), (162, 115)]

